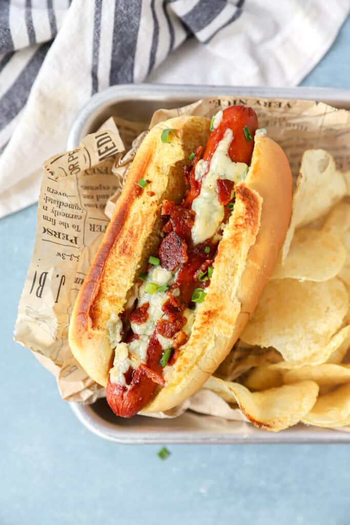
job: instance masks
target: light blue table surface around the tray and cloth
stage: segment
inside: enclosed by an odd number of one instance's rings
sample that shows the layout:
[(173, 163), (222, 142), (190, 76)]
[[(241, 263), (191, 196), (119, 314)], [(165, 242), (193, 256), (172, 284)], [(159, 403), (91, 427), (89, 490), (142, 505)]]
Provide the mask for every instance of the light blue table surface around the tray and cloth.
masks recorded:
[[(350, 18), (306, 86), (350, 87)], [(350, 522), (347, 445), (127, 446), (90, 434), (12, 341), (36, 206), (0, 220), (0, 524)]]

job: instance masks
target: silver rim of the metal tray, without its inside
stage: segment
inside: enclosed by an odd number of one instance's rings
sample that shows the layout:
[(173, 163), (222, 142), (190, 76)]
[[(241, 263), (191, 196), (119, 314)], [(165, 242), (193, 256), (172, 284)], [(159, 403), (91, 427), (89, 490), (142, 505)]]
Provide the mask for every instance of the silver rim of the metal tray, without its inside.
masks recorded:
[[(152, 101), (182, 101), (210, 96), (261, 97), (271, 99), (303, 99), (321, 100), (327, 103), (347, 102), (350, 105), (350, 89), (313, 88), (313, 87), (245, 87), (245, 86), (199, 86), (184, 84), (123, 84), (111, 86), (92, 96), (84, 104), (73, 121), (67, 140), (67, 150), (74, 149), (87, 133), (89, 123), (96, 118), (103, 108), (111, 103), (132, 99)], [(246, 428), (232, 432), (197, 431), (160, 431), (155, 430), (125, 430), (122, 427), (105, 421), (91, 405), (70, 403), (70, 407), (78, 418), (93, 434), (119, 444), (330, 444), (350, 443), (350, 433), (336, 429), (325, 429), (296, 425), (279, 433), (267, 432), (252, 427), (250, 424), (239, 424)], [(205, 416), (202, 416), (205, 417)], [(148, 419), (148, 418), (147, 418)], [(163, 420), (167, 422), (168, 420)]]

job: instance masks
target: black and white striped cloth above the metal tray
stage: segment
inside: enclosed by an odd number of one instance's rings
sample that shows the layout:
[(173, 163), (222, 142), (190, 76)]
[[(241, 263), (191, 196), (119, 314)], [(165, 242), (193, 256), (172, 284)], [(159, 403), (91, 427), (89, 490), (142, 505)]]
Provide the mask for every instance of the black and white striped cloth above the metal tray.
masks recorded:
[(129, 82), (296, 85), (349, 0), (0, 0), (0, 216), (37, 200), (97, 91)]

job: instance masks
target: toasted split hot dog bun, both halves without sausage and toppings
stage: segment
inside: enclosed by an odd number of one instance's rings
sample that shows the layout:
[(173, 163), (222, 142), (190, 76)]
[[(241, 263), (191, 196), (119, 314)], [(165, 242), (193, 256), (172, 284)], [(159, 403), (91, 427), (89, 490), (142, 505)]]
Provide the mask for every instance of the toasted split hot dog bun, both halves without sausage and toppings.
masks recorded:
[[(172, 148), (164, 148), (161, 130), (175, 128)], [(110, 225), (73, 309), (69, 342), (75, 358), (101, 385), (113, 362), (107, 322), (124, 310), (134, 281), (160, 241), (164, 199), (179, 203), (185, 186), (182, 165), (198, 144), (205, 144), (209, 120), (178, 117), (154, 127), (131, 165)], [(150, 180), (137, 196), (140, 178)], [(199, 390), (230, 352), (271, 277), (289, 225), (292, 176), (280, 146), (256, 137), (251, 166), (235, 186), (236, 203), (214, 262), (207, 296), (196, 311), (189, 340), (166, 385), (158, 388), (143, 413), (165, 411)], [(147, 192), (154, 192), (150, 196)]]

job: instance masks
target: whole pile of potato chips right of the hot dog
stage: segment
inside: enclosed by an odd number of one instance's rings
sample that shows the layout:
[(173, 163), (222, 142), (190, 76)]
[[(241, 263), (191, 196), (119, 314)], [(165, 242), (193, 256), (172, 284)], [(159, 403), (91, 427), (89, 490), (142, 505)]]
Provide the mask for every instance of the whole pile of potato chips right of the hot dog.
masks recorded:
[(278, 432), (350, 425), (350, 172), (307, 150), (274, 274), (204, 388)]

